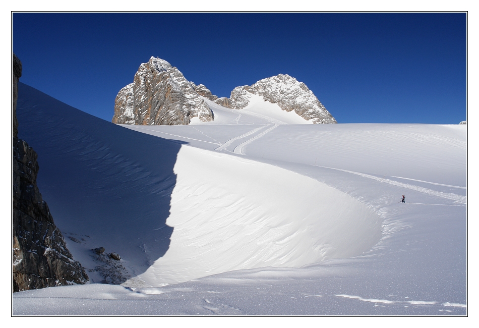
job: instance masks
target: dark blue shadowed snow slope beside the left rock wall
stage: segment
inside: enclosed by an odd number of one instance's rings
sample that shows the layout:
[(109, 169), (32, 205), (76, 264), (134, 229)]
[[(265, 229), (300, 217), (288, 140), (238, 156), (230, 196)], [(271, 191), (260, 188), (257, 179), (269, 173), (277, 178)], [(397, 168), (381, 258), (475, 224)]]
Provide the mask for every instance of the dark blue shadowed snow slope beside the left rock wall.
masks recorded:
[[(183, 142), (118, 127), (23, 83), (17, 116), (19, 138), (38, 153), (38, 186), (55, 224), (92, 282), (113, 275), (103, 282), (123, 283), (165, 254)], [(95, 247), (122, 260), (95, 257)]]

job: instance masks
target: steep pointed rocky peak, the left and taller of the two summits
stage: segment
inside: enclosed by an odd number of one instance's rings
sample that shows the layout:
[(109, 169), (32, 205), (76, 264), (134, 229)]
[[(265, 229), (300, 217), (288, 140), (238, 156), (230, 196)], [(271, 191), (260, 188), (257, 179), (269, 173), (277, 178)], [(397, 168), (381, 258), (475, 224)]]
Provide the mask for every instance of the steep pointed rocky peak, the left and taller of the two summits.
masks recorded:
[(210, 107), (183, 74), (154, 57), (118, 92), (114, 110), (111, 122), (116, 124), (186, 125), (194, 117), (213, 121)]

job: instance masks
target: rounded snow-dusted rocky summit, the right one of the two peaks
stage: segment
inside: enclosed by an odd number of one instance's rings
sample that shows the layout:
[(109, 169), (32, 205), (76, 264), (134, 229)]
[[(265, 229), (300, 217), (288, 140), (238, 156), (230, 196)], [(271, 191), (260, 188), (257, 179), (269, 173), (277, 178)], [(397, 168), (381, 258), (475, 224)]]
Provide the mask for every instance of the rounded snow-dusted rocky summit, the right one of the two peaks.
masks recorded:
[(230, 108), (245, 108), (251, 94), (278, 104), (283, 111), (294, 111), (307, 121), (313, 120), (314, 124), (337, 123), (306, 84), (289, 75), (279, 74), (251, 86), (234, 88), (229, 98)]

